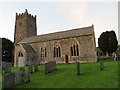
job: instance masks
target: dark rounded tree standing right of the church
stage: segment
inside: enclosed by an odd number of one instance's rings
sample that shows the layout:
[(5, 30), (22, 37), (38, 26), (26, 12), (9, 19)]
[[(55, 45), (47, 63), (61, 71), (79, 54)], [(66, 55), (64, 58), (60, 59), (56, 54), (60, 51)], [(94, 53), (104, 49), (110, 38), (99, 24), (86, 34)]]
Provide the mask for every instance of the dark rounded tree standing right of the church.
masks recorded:
[(118, 48), (118, 41), (114, 31), (103, 32), (98, 38), (98, 46), (104, 54), (109, 55), (115, 52)]

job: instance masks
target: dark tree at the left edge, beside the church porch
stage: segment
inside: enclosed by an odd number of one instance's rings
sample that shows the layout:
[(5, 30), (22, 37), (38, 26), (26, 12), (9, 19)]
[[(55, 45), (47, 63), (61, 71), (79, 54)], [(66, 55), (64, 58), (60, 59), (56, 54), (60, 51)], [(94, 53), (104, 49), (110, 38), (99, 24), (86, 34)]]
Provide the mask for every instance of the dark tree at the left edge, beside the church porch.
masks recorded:
[(13, 42), (2, 38), (2, 61), (13, 63)]

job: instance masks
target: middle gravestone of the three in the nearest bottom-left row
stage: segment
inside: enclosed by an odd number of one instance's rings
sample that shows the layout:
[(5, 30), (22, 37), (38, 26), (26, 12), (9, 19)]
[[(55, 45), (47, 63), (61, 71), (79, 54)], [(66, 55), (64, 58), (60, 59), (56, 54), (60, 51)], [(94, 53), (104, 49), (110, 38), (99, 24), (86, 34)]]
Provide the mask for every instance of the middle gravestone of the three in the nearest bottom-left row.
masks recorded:
[(15, 85), (23, 83), (23, 71), (15, 71)]

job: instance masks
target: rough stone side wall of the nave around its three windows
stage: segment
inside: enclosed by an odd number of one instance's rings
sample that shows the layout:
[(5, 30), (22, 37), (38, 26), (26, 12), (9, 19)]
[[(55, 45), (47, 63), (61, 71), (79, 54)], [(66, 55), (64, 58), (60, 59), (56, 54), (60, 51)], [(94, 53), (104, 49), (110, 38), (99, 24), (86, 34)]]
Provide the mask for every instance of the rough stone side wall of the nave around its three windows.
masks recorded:
[[(78, 44), (79, 46), (79, 56), (71, 56), (70, 54), (70, 46), (71, 44)], [(60, 46), (61, 48), (61, 57), (53, 57), (54, 55), (54, 47)], [(71, 63), (80, 60), (80, 62), (96, 62), (96, 49), (94, 37), (90, 36), (82, 36), (76, 38), (67, 38), (61, 40), (52, 40), (47, 42), (37, 42), (32, 43), (31, 46), (38, 53), (38, 63), (44, 64), (48, 60), (55, 60), (56, 63), (65, 63), (65, 55), (68, 55), (68, 59)], [(40, 47), (46, 47), (47, 49), (47, 57), (40, 57)]]

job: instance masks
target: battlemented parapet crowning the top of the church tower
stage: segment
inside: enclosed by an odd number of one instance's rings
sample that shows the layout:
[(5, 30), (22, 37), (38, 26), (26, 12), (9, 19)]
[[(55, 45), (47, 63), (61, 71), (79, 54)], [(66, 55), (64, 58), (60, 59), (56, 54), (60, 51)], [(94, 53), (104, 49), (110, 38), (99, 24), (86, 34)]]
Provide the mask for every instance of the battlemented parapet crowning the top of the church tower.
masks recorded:
[(29, 18), (29, 19), (36, 20), (36, 15), (33, 16), (33, 15), (29, 14), (26, 9), (24, 13), (20, 13), (20, 14), (16, 13), (16, 20), (22, 19), (22, 18)]

